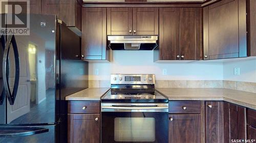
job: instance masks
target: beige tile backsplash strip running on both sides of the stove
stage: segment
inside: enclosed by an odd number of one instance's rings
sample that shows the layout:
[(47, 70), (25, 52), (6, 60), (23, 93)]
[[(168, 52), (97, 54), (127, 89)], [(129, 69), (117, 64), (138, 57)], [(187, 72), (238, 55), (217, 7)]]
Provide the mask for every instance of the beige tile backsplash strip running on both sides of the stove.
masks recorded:
[[(224, 88), (256, 93), (255, 82), (230, 80), (156, 80), (156, 88)], [(89, 88), (110, 88), (110, 80), (89, 80)]]

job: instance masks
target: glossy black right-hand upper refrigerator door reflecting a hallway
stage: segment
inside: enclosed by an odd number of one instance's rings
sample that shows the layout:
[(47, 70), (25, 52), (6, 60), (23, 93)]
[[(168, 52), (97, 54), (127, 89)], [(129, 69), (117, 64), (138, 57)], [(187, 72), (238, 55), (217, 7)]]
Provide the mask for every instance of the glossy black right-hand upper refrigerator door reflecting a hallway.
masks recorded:
[[(41, 24), (44, 23), (44, 24)], [(19, 55), (16, 98), (7, 102), (7, 124), (55, 123), (56, 16), (30, 15), (30, 35), (15, 35)], [(8, 54), (10, 92), (15, 89), (15, 45)]]

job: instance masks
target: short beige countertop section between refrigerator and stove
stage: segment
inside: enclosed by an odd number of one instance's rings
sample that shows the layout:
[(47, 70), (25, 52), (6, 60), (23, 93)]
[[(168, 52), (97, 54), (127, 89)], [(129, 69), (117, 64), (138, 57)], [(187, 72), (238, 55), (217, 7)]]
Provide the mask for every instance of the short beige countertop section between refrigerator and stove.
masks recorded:
[(88, 88), (67, 96), (66, 100), (100, 100), (100, 97), (110, 88)]

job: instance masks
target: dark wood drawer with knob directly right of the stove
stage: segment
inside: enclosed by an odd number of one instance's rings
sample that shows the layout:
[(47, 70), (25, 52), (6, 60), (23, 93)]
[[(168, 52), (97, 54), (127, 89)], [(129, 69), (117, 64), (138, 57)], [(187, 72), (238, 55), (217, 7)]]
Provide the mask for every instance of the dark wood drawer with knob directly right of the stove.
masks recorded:
[(169, 113), (201, 113), (200, 101), (169, 101)]

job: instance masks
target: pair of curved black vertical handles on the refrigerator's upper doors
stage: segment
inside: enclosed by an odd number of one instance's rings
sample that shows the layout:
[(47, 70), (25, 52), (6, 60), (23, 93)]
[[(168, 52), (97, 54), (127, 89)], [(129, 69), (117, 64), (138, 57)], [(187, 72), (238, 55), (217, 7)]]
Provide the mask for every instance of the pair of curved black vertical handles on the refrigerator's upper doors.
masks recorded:
[[(9, 80), (8, 80), (9, 79), (8, 78), (8, 73), (9, 73), (8, 56), (9, 56), (11, 44), (13, 46), (14, 60), (15, 60), (15, 79), (14, 79), (14, 86), (13, 86), (12, 93), (10, 90), (10, 85), (9, 85)], [(18, 48), (17, 48), (17, 43), (16, 43), (14, 35), (9, 36), (6, 45), (7, 46), (4, 51), (4, 59), (3, 59), (3, 79), (4, 79), (4, 87), (5, 87), (8, 101), (9, 101), (10, 105), (13, 105), (16, 95), (17, 95), (18, 82), (19, 82), (19, 55), (18, 55)]]

